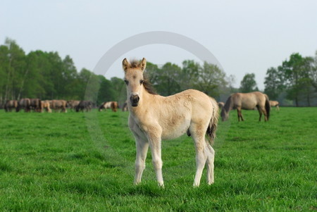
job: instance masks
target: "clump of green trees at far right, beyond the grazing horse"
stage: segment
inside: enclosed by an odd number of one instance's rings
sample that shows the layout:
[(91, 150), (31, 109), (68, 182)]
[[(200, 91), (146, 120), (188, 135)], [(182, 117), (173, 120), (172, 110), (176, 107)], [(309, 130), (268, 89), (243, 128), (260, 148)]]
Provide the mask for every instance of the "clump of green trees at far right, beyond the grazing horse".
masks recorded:
[(316, 106), (317, 51), (306, 57), (294, 53), (277, 68), (268, 68), (264, 84), (264, 92), (273, 99), (284, 96), (295, 106)]

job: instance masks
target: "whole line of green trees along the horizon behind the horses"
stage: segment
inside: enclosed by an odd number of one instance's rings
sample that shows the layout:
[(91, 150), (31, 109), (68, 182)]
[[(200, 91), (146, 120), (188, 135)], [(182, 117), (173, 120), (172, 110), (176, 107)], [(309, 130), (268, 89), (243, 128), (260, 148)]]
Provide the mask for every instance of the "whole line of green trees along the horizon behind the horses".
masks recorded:
[[(316, 61), (317, 52), (314, 58), (292, 54), (278, 68), (267, 70), (263, 92), (270, 99), (288, 99), (297, 106), (303, 102), (313, 105), (317, 90)], [(163, 66), (148, 62), (146, 74), (156, 92), (163, 96), (193, 88), (218, 101), (225, 101), (233, 92), (259, 90), (254, 73), (244, 75), (240, 87), (235, 88), (232, 86), (234, 76), (226, 75), (214, 64), (192, 60), (183, 61), (182, 67), (170, 62)], [(89, 95), (87, 82), (95, 87), (91, 90), (98, 91), (97, 94)], [(125, 83), (118, 77), (108, 80), (86, 68), (78, 71), (70, 56), (61, 58), (56, 51), (37, 50), (25, 54), (13, 39), (8, 38), (0, 46), (0, 104), (21, 98), (82, 100), (87, 95), (97, 104), (104, 101), (123, 104)]]

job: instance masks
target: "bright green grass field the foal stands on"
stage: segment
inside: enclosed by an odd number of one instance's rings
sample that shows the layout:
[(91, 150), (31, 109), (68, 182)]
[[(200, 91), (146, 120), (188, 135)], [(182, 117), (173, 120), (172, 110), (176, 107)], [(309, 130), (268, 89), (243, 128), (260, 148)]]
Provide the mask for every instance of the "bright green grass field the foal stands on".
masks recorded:
[(218, 126), (215, 183), (192, 187), (194, 144), (164, 141), (165, 188), (151, 154), (134, 186), (128, 113), (0, 111), (0, 211), (316, 211), (317, 108), (236, 111)]

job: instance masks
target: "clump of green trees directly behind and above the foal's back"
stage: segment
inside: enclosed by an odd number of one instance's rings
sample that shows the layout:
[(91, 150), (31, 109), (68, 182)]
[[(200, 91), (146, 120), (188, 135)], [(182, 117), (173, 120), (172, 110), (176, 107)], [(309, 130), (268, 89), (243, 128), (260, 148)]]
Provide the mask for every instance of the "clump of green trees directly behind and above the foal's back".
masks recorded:
[(151, 83), (163, 96), (189, 88), (199, 89), (210, 96), (220, 96), (228, 85), (223, 70), (206, 62), (201, 67), (199, 63), (187, 60), (183, 61), (182, 68), (172, 63), (166, 63), (162, 68), (148, 64), (147, 74)]

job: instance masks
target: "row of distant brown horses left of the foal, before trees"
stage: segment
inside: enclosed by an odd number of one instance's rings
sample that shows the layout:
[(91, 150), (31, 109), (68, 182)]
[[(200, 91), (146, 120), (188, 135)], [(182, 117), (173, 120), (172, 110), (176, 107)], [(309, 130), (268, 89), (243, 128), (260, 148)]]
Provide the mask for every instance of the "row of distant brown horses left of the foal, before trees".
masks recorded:
[[(94, 108), (94, 104), (92, 101), (87, 100), (41, 100), (41, 99), (20, 99), (18, 100), (8, 100), (6, 104), (4, 104), (4, 110), (6, 112), (11, 112), (15, 110), (16, 112), (21, 111), (22, 109), (25, 112), (35, 111), (38, 113), (42, 113), (46, 111), (47, 113), (61, 112), (66, 113), (67, 109), (70, 111), (91, 111)], [(99, 106), (99, 111), (106, 110), (107, 108), (111, 108), (112, 111), (116, 112), (119, 108), (117, 101), (105, 101)], [(122, 111), (128, 111), (126, 103), (123, 105)]]

